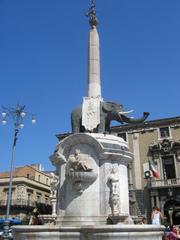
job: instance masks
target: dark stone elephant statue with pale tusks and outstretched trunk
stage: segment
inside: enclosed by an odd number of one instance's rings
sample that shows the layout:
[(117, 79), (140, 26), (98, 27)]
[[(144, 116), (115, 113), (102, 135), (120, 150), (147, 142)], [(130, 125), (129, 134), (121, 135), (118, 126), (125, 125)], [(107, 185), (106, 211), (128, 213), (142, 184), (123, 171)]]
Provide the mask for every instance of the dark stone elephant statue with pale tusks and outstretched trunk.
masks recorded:
[[(116, 120), (120, 123), (141, 123), (145, 121), (148, 117), (149, 113), (144, 112), (142, 118), (133, 119), (126, 116), (126, 112), (123, 110), (123, 105), (116, 102), (105, 102), (102, 101), (100, 103), (100, 124), (92, 130), (95, 133), (104, 133), (110, 131), (111, 121)], [(74, 109), (71, 114), (71, 124), (72, 124), (72, 132), (89, 132), (82, 125), (82, 106)]]

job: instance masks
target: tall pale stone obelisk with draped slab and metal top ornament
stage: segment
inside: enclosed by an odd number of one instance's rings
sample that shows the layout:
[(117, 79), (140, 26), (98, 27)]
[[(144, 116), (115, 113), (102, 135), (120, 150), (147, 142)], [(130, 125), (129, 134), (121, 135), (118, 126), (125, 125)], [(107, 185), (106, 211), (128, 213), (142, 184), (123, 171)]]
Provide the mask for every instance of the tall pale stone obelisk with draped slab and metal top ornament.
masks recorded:
[(100, 50), (97, 32), (98, 20), (95, 13), (94, 0), (87, 13), (90, 31), (88, 42), (88, 91), (83, 98), (82, 125), (93, 132), (100, 123), (101, 81), (100, 81)]

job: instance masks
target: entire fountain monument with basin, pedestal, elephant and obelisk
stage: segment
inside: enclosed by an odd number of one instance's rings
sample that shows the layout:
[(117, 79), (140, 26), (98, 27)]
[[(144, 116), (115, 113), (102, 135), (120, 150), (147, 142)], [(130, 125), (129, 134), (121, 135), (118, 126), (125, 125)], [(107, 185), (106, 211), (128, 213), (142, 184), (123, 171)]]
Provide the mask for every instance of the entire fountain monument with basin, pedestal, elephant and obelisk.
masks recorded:
[(72, 112), (72, 134), (58, 143), (51, 156), (59, 177), (56, 225), (17, 226), (14, 239), (161, 240), (163, 226), (133, 224), (127, 171), (133, 155), (127, 142), (110, 135), (112, 120), (139, 123), (148, 113), (132, 119), (122, 104), (102, 99), (98, 20), (93, 0), (87, 16), (88, 93)]

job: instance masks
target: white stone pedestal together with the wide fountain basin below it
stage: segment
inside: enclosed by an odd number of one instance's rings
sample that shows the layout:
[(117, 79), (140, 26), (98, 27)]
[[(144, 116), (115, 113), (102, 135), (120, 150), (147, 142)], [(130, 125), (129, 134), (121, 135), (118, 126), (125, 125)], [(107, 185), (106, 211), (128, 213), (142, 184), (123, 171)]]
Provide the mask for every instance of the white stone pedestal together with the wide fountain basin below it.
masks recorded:
[(56, 225), (14, 226), (14, 240), (162, 240), (163, 226), (131, 224), (127, 143), (79, 133), (51, 156), (59, 174)]

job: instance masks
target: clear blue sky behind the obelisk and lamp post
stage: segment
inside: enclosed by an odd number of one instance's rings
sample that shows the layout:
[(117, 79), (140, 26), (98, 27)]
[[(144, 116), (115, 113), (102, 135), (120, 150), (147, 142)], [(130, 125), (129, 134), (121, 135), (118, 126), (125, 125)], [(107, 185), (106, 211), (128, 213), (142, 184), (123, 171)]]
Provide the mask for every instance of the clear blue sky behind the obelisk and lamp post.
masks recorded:
[[(42, 163), (87, 90), (88, 0), (0, 0), (0, 106), (19, 102), (26, 118), (15, 166)], [(149, 111), (149, 120), (180, 116), (180, 1), (96, 0), (104, 100)], [(0, 171), (9, 169), (13, 122), (0, 126)]]

